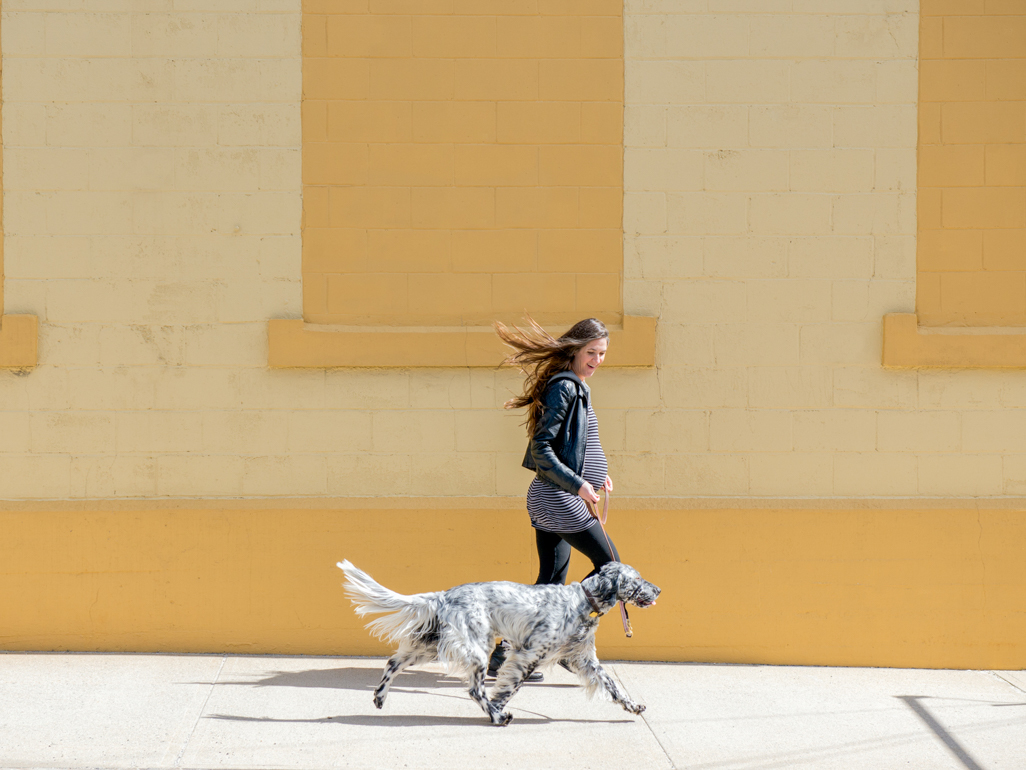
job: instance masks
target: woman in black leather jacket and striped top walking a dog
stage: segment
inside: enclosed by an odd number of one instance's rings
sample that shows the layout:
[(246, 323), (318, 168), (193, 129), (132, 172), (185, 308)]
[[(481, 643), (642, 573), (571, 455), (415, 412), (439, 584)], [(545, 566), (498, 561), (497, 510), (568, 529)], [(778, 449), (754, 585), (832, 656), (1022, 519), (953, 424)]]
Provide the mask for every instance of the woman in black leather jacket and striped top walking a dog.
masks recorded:
[[(591, 560), (594, 569), (589, 576), (602, 565), (620, 561), (616, 546), (585, 504), (598, 503), (598, 488), (606, 494), (613, 491), (591, 389), (585, 383), (605, 358), (609, 333), (600, 320), (587, 318), (556, 340), (527, 320), (526, 330), (496, 323), (499, 337), (517, 351), (504, 363), (526, 374), (523, 394), (505, 406), (527, 408), (530, 440), (523, 466), (537, 473), (527, 489), (527, 512), (538, 545), (536, 585), (561, 585), (566, 582), (571, 548)], [(503, 657), (497, 647), (489, 673), (494, 676)]]

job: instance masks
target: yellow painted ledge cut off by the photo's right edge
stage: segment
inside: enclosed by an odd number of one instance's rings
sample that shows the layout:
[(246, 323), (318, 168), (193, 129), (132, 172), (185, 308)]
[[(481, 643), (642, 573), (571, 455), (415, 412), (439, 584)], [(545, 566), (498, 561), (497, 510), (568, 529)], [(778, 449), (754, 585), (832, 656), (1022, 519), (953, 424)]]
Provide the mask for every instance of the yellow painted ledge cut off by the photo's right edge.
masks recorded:
[(1026, 330), (925, 329), (915, 313), (883, 316), (883, 365), (1026, 369)]

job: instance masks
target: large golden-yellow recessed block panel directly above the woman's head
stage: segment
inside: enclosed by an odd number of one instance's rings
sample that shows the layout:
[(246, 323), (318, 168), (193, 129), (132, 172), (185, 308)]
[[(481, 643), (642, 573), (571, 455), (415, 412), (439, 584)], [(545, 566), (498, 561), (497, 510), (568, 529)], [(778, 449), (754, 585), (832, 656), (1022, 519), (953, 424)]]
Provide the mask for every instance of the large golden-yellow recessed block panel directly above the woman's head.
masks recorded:
[(623, 314), (621, 0), (303, 14), (304, 317)]

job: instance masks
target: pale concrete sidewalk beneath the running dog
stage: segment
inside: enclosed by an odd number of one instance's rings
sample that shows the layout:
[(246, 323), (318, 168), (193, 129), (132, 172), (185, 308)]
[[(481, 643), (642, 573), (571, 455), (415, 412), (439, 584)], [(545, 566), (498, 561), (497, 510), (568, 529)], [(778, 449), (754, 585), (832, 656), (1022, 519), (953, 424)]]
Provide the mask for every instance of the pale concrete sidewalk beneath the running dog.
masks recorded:
[(491, 727), (437, 666), (0, 654), (3, 768), (1026, 768), (1026, 672), (609, 663), (635, 718), (556, 668)]

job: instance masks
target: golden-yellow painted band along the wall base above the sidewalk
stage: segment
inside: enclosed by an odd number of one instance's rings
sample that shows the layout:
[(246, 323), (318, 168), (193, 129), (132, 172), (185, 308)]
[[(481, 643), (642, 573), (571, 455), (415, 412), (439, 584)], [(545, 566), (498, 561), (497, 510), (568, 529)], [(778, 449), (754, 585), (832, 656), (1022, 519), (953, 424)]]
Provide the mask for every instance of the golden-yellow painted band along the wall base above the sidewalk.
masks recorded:
[[(531, 580), (522, 510), (425, 502), (8, 506), (0, 647), (377, 655), (342, 557), (400, 592)], [(1021, 508), (618, 502), (613, 537), (663, 593), (633, 639), (605, 618), (604, 658), (1026, 666)]]

